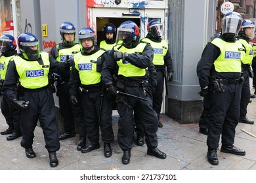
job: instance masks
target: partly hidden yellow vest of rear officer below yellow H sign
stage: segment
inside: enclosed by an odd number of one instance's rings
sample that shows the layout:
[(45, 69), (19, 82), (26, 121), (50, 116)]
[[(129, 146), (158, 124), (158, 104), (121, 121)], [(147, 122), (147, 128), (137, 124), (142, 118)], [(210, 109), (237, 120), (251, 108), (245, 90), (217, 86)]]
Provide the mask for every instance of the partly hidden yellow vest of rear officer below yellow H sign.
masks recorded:
[[(56, 48), (58, 48), (59, 44), (56, 45)], [(63, 48), (58, 50), (58, 57), (56, 58), (57, 61), (66, 61), (69, 58), (74, 58), (74, 53), (72, 52), (79, 52), (80, 51), (80, 45), (75, 44), (74, 46), (70, 48)]]

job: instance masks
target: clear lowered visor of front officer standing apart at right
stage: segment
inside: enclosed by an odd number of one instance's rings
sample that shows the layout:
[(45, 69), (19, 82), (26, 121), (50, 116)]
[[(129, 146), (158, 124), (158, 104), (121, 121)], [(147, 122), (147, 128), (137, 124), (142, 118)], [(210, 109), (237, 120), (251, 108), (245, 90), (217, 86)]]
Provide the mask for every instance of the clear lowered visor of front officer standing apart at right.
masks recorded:
[(226, 18), (223, 20), (222, 33), (235, 33), (238, 35), (242, 20), (238, 18)]

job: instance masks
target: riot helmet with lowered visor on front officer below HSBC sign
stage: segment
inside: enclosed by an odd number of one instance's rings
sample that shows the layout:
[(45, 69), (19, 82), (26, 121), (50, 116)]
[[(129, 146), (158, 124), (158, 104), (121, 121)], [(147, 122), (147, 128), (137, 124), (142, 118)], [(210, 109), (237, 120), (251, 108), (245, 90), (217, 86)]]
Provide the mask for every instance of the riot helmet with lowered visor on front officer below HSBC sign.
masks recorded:
[(235, 34), (238, 35), (242, 25), (242, 16), (238, 12), (228, 12), (223, 17), (221, 33), (224, 35)]

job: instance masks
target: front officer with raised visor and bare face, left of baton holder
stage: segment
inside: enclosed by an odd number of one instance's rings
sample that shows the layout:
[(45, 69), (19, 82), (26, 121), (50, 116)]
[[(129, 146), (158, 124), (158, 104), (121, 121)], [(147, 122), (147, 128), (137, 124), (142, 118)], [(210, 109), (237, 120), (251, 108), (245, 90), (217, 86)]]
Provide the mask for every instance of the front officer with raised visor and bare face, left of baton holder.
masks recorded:
[(110, 143), (114, 142), (112, 129), (112, 108), (110, 96), (103, 90), (101, 81), (102, 63), (108, 52), (96, 46), (95, 31), (83, 27), (78, 34), (81, 51), (74, 56), (74, 67), (70, 75), (70, 100), (77, 104), (77, 92), (81, 92), (81, 103), (87, 125), (89, 144), (82, 148), (82, 153), (100, 148), (99, 127), (104, 142), (104, 156), (112, 156)]

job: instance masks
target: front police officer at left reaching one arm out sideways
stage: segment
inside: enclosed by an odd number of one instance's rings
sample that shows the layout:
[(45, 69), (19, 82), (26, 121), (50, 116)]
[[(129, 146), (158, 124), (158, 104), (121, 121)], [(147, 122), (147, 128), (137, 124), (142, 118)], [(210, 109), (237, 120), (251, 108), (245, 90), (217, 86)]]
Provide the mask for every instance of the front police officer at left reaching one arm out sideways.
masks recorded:
[[(9, 62), (3, 93), (18, 110), (22, 110), (20, 129), (21, 146), (27, 158), (35, 158), (33, 137), (39, 120), (45, 137), (45, 148), (49, 152), (51, 167), (58, 166), (56, 151), (60, 148), (58, 127), (55, 120), (53, 93), (49, 88), (48, 73), (70, 69), (70, 61), (59, 63), (46, 52), (39, 52), (39, 42), (32, 33), (22, 33), (18, 37), (20, 54)], [(19, 95), (16, 83), (20, 80)]]

